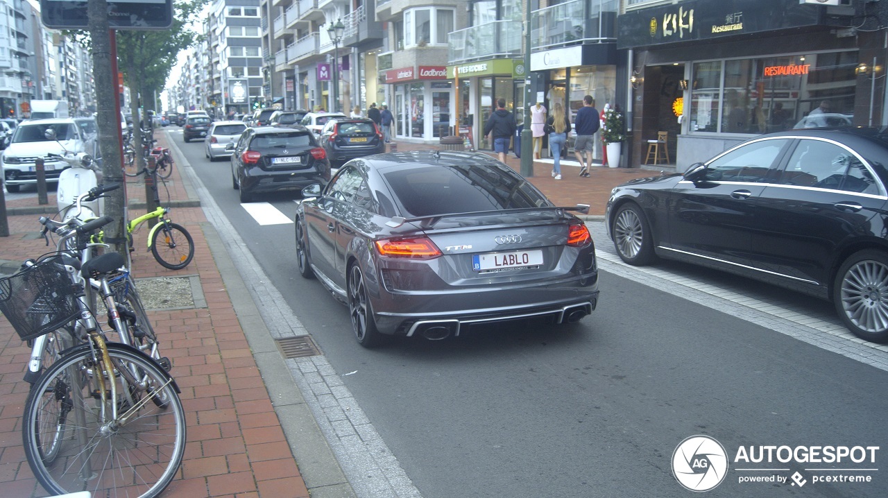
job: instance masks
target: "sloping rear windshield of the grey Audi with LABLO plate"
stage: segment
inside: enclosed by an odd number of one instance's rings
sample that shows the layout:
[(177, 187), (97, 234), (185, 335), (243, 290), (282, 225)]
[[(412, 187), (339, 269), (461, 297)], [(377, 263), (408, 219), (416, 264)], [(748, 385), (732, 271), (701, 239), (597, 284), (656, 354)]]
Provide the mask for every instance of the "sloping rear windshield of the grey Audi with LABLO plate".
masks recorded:
[(385, 180), (410, 216), (548, 206), (508, 167), (436, 165), (394, 170)]

